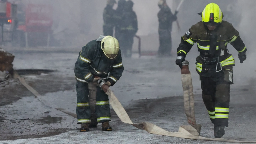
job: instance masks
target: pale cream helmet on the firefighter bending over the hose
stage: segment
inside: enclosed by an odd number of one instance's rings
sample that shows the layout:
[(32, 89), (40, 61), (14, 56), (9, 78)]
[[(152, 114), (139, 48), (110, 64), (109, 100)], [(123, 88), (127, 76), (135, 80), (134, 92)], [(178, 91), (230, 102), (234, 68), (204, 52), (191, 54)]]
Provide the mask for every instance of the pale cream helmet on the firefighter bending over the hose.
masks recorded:
[(119, 51), (119, 42), (112, 36), (106, 36), (101, 41), (101, 49), (108, 58), (116, 58)]

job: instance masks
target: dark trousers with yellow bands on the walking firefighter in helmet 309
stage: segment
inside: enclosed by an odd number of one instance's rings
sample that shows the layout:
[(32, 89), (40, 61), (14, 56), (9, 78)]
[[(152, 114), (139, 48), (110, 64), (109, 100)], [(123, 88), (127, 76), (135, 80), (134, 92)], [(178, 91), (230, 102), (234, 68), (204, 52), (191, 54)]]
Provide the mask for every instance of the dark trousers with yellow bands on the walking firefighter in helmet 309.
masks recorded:
[(233, 71), (222, 70), (216, 75), (200, 76), (204, 105), (214, 126), (228, 127), (230, 84), (233, 84)]

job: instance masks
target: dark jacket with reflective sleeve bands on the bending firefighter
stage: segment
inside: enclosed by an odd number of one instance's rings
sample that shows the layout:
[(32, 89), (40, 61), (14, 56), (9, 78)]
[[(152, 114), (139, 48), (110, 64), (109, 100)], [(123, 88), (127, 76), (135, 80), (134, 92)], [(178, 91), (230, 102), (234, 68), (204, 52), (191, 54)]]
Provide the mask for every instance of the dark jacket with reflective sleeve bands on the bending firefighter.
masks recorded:
[(75, 78), (81, 82), (91, 82), (95, 76), (107, 78), (113, 86), (122, 76), (124, 67), (121, 50), (117, 57), (109, 59), (101, 49), (101, 41), (93, 40), (82, 47), (75, 63)]

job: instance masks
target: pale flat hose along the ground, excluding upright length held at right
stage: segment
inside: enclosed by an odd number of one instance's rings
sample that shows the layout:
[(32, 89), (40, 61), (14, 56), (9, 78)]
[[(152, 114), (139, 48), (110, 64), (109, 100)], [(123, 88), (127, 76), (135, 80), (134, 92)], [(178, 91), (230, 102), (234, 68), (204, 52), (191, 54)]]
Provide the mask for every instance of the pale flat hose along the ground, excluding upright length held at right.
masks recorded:
[[(21, 78), (17, 72), (14, 73), (14, 78), (18, 78), (23, 86), (25, 86), (29, 91), (32, 92), (33, 95), (35, 95), (39, 101), (42, 103), (46, 103), (41, 99), (41, 95), (38, 94), (36, 90), (34, 90), (31, 86), (29, 86), (24, 78)], [(126, 111), (124, 110), (121, 103), (117, 100), (116, 96), (113, 94), (113, 92), (108, 89), (106, 94), (109, 96), (110, 99), (110, 105), (112, 106), (113, 110), (116, 112), (117, 116), (121, 119), (122, 122), (128, 123), (133, 125), (134, 127), (142, 130), (146, 130), (148, 133), (151, 134), (158, 134), (158, 135), (165, 135), (169, 137), (177, 137), (177, 138), (185, 138), (185, 139), (196, 139), (196, 140), (210, 140), (210, 141), (219, 141), (219, 142), (233, 142), (233, 143), (256, 143), (255, 142), (245, 142), (245, 141), (238, 141), (234, 139), (224, 139), (224, 138), (205, 138), (201, 136), (194, 136), (189, 133), (183, 133), (183, 132), (168, 132), (152, 123), (149, 122), (142, 122), (142, 123), (133, 123)], [(66, 114), (69, 114), (70, 116), (76, 117), (76, 114), (70, 113), (62, 108), (55, 108), (57, 110), (60, 110)]]

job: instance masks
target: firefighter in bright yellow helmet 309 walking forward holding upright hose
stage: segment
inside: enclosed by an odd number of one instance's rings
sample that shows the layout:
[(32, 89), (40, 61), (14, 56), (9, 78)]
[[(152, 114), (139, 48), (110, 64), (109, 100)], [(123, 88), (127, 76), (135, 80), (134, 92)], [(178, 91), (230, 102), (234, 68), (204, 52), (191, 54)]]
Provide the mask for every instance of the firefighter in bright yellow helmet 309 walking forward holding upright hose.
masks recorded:
[(181, 67), (187, 53), (197, 43), (200, 55), (196, 58), (196, 71), (201, 79), (203, 102), (214, 123), (214, 136), (221, 138), (225, 134), (224, 127), (228, 127), (230, 85), (235, 65), (227, 46), (230, 43), (238, 51), (240, 63), (246, 59), (247, 49), (239, 32), (222, 20), (223, 14), (217, 4), (208, 4), (199, 15), (202, 21), (181, 37), (176, 64)]

